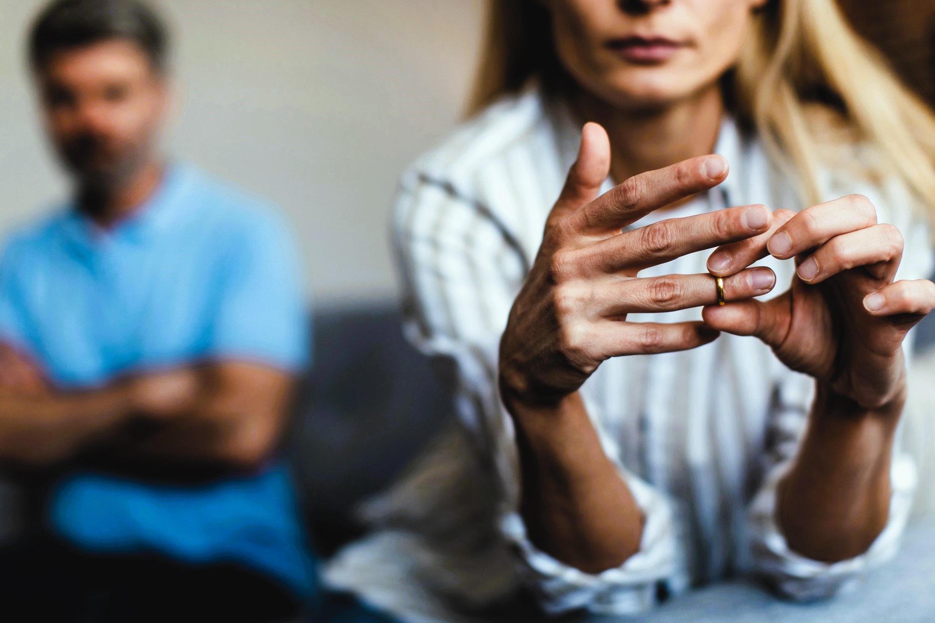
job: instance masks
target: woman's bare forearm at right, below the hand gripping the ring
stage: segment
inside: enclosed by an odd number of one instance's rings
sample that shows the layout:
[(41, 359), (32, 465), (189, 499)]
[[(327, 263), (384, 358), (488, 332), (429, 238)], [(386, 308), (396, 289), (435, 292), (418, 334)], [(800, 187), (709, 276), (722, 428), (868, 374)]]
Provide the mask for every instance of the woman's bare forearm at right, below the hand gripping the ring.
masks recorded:
[(799, 454), (779, 485), (777, 519), (790, 548), (836, 562), (864, 553), (883, 531), (903, 403), (870, 411), (819, 388)]

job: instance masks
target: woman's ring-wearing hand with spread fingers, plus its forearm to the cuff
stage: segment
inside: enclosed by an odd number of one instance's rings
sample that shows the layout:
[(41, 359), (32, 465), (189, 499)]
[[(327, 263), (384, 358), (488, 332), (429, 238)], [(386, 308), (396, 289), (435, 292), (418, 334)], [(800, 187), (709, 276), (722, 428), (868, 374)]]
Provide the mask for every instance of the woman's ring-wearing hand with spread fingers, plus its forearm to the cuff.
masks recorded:
[[(640, 279), (640, 269), (680, 255), (763, 235), (763, 206), (732, 208), (621, 230), (643, 215), (716, 186), (720, 156), (636, 176), (597, 197), (611, 147), (584, 126), (578, 161), (549, 214), (539, 254), (513, 303), (500, 341), (500, 395), (515, 426), (520, 513), (532, 543), (583, 572), (618, 567), (640, 551), (646, 518), (604, 454), (577, 392), (605, 359), (694, 348), (717, 337), (704, 323), (626, 321), (630, 312), (669, 312), (715, 302), (711, 275)], [(769, 268), (738, 271), (726, 297), (769, 292)]]

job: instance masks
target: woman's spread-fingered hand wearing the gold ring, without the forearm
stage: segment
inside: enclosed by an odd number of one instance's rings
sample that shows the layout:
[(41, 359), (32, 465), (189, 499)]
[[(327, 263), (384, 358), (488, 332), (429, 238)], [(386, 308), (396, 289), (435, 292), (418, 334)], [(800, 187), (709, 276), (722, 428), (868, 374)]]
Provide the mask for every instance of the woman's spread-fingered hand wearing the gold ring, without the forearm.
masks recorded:
[[(718, 332), (702, 322), (631, 323), (631, 312), (671, 312), (717, 302), (710, 274), (640, 278), (638, 273), (774, 228), (764, 206), (717, 210), (621, 230), (647, 213), (706, 191), (727, 175), (721, 156), (702, 156), (630, 178), (597, 196), (610, 172), (604, 129), (587, 123), (578, 160), (545, 226), (500, 342), (499, 383), (508, 409), (548, 407), (573, 394), (606, 359), (696, 348)], [(770, 268), (724, 280), (727, 300), (770, 292)]]

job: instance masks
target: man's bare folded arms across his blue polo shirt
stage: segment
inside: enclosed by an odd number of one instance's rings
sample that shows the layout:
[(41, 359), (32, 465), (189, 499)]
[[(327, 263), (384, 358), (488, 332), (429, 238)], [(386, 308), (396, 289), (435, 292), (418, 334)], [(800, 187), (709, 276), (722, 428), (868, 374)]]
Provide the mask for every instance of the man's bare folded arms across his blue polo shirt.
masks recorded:
[[(163, 369), (94, 391), (0, 394), (0, 460), (250, 470), (275, 448), (294, 379), (242, 362)], [(127, 426), (133, 423), (142, 426)]]

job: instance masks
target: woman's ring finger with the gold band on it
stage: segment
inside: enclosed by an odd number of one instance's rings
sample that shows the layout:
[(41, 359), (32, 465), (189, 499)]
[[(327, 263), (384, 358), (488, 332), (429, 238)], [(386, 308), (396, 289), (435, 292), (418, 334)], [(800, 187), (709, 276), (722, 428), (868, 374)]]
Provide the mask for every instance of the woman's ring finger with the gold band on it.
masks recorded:
[[(759, 297), (776, 284), (770, 268), (751, 268), (724, 278), (728, 301)], [(608, 316), (626, 313), (674, 312), (692, 307), (717, 304), (717, 283), (712, 275), (667, 275), (615, 283), (608, 289)]]

